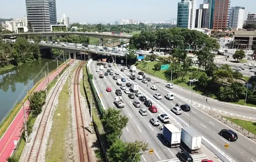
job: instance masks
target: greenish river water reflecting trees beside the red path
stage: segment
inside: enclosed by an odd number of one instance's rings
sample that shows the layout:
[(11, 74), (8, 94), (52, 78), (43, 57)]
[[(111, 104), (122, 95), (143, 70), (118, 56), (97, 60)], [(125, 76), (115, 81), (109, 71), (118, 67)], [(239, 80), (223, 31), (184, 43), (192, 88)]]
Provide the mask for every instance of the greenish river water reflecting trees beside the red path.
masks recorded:
[[(8, 69), (0, 74), (0, 121), (10, 111), (17, 100), (24, 99), (29, 89), (47, 74), (57, 68), (57, 62), (50, 59), (39, 59), (34, 62), (24, 63), (20, 66)], [(59, 61), (59, 65), (62, 62)], [(27, 87), (27, 88), (26, 88)]]

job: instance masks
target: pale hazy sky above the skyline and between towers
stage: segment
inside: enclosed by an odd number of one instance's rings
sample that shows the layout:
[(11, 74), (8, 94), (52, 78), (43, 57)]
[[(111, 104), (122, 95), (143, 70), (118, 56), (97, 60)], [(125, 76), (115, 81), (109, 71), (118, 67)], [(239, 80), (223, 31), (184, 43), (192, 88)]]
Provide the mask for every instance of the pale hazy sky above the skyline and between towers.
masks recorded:
[[(119, 19), (167, 21), (176, 19), (177, 3), (181, 0), (56, 0), (57, 19), (62, 14), (73, 22), (115, 22)], [(203, 0), (197, 0), (197, 8)], [(256, 0), (231, 0), (230, 6), (245, 7), (256, 13)], [(22, 18), (26, 16), (25, 0), (2, 0), (0, 18)]]

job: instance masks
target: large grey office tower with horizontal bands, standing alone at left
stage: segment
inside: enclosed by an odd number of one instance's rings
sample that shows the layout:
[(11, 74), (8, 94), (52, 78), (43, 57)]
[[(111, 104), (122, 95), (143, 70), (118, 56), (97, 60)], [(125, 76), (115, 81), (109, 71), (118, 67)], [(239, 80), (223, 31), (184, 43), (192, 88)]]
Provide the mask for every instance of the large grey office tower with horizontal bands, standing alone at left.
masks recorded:
[(26, 0), (26, 9), (33, 31), (51, 31), (48, 0)]

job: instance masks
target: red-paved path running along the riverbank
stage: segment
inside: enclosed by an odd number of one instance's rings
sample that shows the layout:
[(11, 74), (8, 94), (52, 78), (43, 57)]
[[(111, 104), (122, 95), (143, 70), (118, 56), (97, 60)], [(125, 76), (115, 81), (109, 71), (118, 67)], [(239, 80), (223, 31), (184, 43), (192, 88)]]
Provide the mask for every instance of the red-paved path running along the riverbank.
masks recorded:
[[(71, 63), (74, 62), (74, 60), (70, 61)], [(59, 73), (66, 67), (66, 64), (59, 67), (58, 71)], [(49, 81), (53, 81), (54, 77), (58, 75), (58, 71), (54, 71), (49, 75)], [(40, 84), (35, 88), (34, 92), (44, 90), (46, 85), (45, 79), (40, 82)], [(29, 101), (27, 100), (25, 103), (25, 110), (27, 111), (29, 109)], [(28, 118), (28, 114), (26, 113), (26, 118)], [(14, 140), (19, 141), (22, 129), (23, 129), (23, 123), (24, 123), (24, 116), (23, 116), (23, 107), (20, 109), (20, 112), (18, 112), (17, 116), (13, 119), (13, 122), (3, 135), (3, 137), (0, 140), (0, 162), (7, 162), (7, 157), (11, 156), (13, 153), (13, 150), (15, 149)]]

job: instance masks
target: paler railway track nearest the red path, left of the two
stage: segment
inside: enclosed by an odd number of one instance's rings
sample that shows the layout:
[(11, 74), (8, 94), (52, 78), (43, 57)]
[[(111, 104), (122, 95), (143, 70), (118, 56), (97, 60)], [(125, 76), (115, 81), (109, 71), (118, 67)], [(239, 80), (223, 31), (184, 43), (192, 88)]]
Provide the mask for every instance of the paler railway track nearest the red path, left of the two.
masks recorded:
[[(71, 65), (74, 66), (74, 63)], [(71, 67), (69, 67), (71, 68)], [(38, 162), (39, 161), (39, 154), (42, 149), (42, 140), (46, 133), (46, 126), (48, 123), (48, 119), (50, 116), (50, 112), (54, 106), (54, 102), (56, 100), (57, 94), (61, 91), (61, 85), (65, 81), (66, 76), (68, 75), (69, 70), (66, 70), (63, 75), (61, 75), (61, 78), (57, 81), (56, 86), (54, 87), (53, 93), (51, 93), (51, 96), (49, 100), (46, 103), (45, 108), (42, 112), (42, 117), (40, 119), (40, 124), (38, 126), (38, 129), (36, 131), (36, 135), (34, 138), (33, 145), (29, 151), (29, 156), (26, 158), (26, 162)]]

